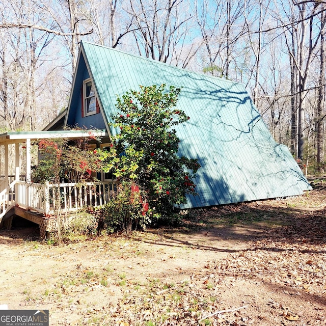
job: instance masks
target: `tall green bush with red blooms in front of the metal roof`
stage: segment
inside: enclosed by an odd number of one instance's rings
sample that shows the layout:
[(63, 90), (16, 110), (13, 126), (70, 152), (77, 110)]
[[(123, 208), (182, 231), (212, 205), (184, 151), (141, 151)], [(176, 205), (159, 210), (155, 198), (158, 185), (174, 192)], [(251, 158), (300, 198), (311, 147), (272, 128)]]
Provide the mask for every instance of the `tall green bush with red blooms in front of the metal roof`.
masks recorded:
[[(180, 91), (174, 86), (169, 91), (166, 85), (140, 86), (140, 91), (117, 98), (118, 113), (112, 116), (117, 133), (100, 157), (104, 172), (113, 173), (124, 189), (139, 187), (142, 202), (137, 202), (134, 220), (172, 218), (175, 206), (186, 203), (186, 194), (196, 195), (198, 160), (178, 155), (174, 126), (190, 119), (176, 106)], [(131, 193), (124, 190), (129, 203)]]

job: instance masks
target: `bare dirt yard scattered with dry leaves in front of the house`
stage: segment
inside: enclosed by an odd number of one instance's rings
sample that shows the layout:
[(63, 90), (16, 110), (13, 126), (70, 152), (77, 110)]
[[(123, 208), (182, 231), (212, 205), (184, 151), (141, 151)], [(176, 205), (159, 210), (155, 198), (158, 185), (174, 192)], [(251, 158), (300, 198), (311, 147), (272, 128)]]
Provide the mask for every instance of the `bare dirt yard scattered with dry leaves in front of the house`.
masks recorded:
[(50, 325), (326, 325), (326, 189), (53, 246), (0, 230), (0, 305)]

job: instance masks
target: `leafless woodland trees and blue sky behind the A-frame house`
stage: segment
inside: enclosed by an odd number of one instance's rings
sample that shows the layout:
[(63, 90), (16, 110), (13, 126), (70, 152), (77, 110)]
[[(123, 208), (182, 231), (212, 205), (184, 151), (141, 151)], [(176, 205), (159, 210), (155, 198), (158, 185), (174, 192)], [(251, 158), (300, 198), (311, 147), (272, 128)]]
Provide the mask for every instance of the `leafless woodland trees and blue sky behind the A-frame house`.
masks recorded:
[(3, 0), (0, 9), (3, 130), (39, 128), (66, 107), (85, 39), (244, 84), (275, 140), (323, 170), (324, 0)]

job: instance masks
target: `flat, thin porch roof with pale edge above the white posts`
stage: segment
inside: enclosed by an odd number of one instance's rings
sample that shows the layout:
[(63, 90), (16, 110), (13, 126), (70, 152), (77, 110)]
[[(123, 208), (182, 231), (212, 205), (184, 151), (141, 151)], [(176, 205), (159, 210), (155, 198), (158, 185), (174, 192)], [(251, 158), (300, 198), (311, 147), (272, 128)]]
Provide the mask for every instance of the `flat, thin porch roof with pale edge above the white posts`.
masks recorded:
[(8, 131), (0, 134), (0, 145), (22, 143), (27, 139), (84, 138), (108, 136), (106, 130)]

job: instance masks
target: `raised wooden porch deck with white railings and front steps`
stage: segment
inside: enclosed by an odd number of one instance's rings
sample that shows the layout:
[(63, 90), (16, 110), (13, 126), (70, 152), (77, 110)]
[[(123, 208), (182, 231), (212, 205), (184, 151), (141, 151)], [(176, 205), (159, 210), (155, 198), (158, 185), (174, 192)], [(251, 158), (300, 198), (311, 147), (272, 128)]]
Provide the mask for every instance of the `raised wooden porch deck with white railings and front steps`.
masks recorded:
[(0, 182), (0, 186), (0, 222), (5, 218), (10, 228), (13, 215), (20, 216), (40, 226), (42, 239), (46, 232), (56, 231), (56, 191), (60, 191), (62, 213), (105, 205), (117, 192), (114, 181), (40, 184), (14, 180), (7, 186)]

